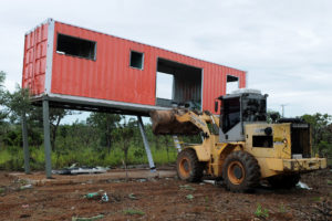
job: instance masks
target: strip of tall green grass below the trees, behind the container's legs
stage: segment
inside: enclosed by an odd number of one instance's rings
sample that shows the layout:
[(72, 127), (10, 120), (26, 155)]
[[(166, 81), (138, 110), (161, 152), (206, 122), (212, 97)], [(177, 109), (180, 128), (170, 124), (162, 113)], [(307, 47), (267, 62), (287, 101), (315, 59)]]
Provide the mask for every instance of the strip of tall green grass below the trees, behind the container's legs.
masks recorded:
[[(45, 165), (44, 147), (29, 147), (29, 150), (31, 169), (43, 170)], [(152, 155), (156, 165), (165, 165), (176, 161), (177, 151), (175, 148), (169, 148), (167, 155), (165, 148), (156, 150), (152, 146)], [(80, 147), (76, 149), (62, 147), (51, 154), (52, 168), (54, 169), (69, 167), (74, 162), (79, 162), (81, 166), (113, 167), (122, 165), (123, 159), (124, 152), (117, 146), (114, 146), (110, 154), (106, 149), (92, 147)], [(142, 164), (148, 164), (145, 149), (143, 147), (132, 147), (128, 151), (127, 165)], [(21, 147), (6, 147), (0, 150), (0, 169), (23, 170), (23, 166), (24, 159)]]

